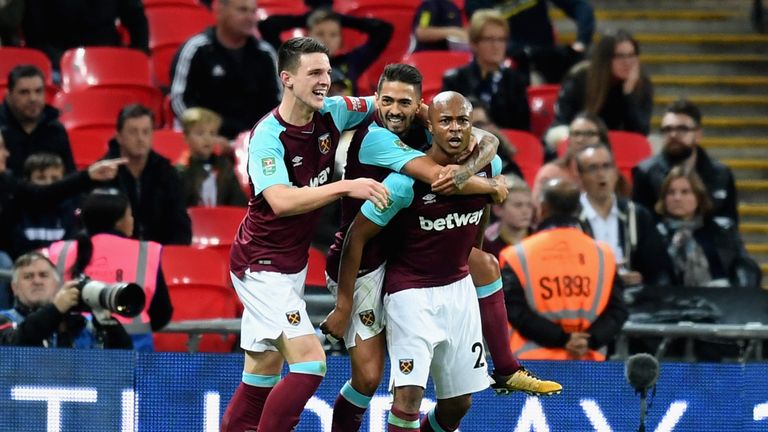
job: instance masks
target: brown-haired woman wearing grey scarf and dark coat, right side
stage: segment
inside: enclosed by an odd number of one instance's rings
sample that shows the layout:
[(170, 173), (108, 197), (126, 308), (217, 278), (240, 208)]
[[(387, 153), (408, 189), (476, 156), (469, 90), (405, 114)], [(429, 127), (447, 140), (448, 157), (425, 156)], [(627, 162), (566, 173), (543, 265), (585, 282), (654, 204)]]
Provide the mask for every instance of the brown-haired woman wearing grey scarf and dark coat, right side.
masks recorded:
[(661, 185), (656, 225), (672, 260), (676, 285), (757, 287), (760, 269), (744, 249), (732, 219), (712, 217), (712, 201), (698, 174), (672, 168)]

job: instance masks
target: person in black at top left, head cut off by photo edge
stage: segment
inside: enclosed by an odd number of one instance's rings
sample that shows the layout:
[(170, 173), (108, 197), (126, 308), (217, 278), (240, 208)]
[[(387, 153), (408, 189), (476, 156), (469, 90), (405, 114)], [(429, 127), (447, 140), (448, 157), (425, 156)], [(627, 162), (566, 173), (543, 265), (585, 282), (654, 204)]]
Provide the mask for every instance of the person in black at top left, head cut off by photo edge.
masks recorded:
[(149, 25), (141, 0), (26, 0), (24, 40), (58, 69), (61, 56), (81, 46), (122, 46), (116, 21), (130, 47), (149, 52)]

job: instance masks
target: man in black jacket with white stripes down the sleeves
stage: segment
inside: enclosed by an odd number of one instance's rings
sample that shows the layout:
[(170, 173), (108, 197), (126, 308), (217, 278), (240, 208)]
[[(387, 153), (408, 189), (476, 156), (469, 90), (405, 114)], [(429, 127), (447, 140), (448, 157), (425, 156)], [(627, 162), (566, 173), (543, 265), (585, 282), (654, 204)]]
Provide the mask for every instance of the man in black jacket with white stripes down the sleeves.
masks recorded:
[(204, 107), (222, 117), (221, 133), (234, 139), (280, 101), (277, 59), (253, 36), (256, 0), (216, 2), (216, 25), (192, 36), (171, 64), (171, 107), (176, 118)]

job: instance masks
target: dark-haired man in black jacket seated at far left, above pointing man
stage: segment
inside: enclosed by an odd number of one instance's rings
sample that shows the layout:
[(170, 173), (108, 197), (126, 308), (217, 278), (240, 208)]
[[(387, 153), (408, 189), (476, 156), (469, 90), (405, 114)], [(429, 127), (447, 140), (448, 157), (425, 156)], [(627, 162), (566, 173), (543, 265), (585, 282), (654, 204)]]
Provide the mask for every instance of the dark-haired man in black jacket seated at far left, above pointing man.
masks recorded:
[(11, 156), (8, 169), (21, 176), (32, 153), (50, 152), (64, 161), (66, 172), (75, 170), (69, 138), (59, 111), (45, 103), (45, 76), (35, 66), (19, 65), (8, 73), (8, 93), (0, 109), (0, 131)]

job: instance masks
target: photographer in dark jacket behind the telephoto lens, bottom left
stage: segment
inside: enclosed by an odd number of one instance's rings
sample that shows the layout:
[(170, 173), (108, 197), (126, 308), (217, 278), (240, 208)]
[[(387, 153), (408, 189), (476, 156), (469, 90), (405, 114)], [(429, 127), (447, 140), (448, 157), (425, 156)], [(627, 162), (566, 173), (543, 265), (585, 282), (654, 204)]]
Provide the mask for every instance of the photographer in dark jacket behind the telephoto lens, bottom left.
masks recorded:
[(73, 311), (80, 302), (77, 281), (61, 284), (53, 263), (30, 252), (13, 267), (13, 309), (0, 311), (0, 345), (60, 348), (131, 349), (131, 338), (119, 322), (99, 322)]

